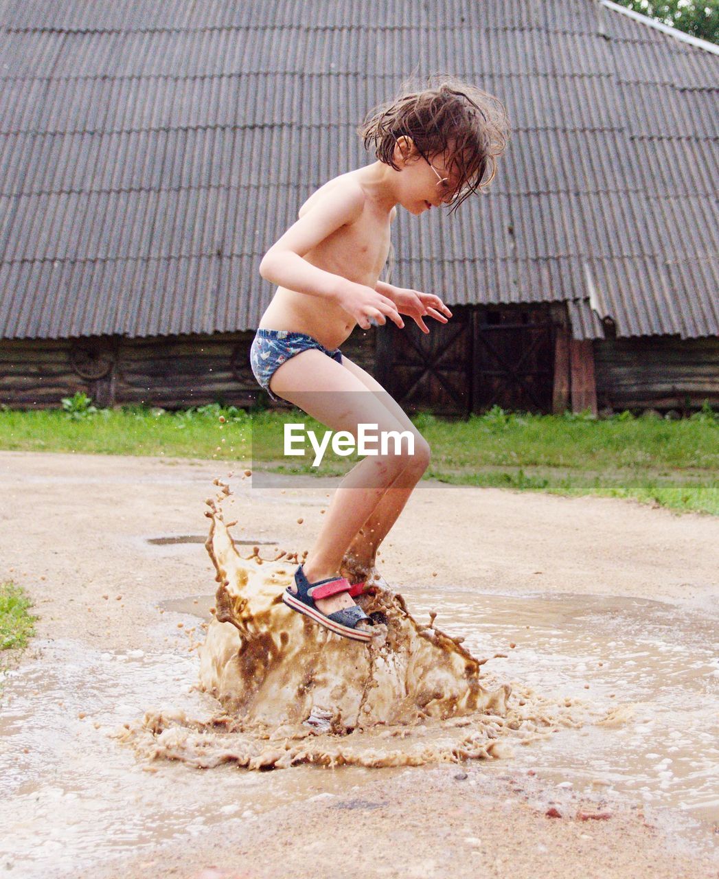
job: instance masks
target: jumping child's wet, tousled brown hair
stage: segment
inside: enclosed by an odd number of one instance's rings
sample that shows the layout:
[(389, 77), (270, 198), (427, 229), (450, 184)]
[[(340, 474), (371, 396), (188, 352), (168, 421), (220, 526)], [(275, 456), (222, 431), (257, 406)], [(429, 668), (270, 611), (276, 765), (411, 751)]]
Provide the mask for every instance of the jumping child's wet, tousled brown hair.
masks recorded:
[(397, 140), (410, 138), (419, 156), (447, 153), (448, 170), (458, 173), (453, 210), (472, 193), (483, 192), (497, 174), (509, 124), (502, 102), (454, 76), (432, 76), (424, 88), (405, 83), (396, 98), (375, 107), (359, 127), (365, 148), (391, 165)]

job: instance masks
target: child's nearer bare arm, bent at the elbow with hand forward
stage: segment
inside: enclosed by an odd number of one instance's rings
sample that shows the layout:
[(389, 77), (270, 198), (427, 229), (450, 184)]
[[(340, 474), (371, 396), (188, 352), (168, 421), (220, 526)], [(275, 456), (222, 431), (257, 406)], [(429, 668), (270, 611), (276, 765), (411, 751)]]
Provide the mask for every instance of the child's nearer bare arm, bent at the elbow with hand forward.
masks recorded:
[(403, 327), (394, 302), (387, 296), (325, 272), (303, 258), (332, 232), (358, 220), (364, 205), (361, 186), (345, 183), (333, 187), (272, 244), (259, 264), (259, 273), (280, 287), (337, 301), (364, 330), (370, 319), (385, 323), (386, 317)]

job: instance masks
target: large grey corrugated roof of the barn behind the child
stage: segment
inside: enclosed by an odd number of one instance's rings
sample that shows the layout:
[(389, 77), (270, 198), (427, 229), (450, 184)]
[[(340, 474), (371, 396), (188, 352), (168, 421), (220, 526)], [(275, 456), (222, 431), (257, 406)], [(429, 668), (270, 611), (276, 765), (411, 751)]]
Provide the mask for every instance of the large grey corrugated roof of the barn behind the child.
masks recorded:
[(400, 212), (393, 280), (566, 301), (576, 338), (719, 334), (719, 57), (613, 7), (0, 2), (0, 338), (253, 328), (261, 255), (435, 70), (512, 138), (489, 195)]

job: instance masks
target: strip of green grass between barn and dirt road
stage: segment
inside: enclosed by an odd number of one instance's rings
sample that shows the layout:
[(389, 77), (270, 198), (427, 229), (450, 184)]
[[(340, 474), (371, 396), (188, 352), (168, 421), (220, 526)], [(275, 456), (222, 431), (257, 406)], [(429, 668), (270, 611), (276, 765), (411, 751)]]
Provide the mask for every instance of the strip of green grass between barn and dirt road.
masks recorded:
[[(222, 420), (224, 419), (224, 420)], [(425, 478), (464, 485), (636, 498), (680, 511), (719, 515), (719, 416), (705, 405), (690, 418), (597, 420), (509, 413), (449, 421), (413, 419), (432, 447)], [(327, 454), (319, 471), (308, 457), (282, 454), (283, 425), (324, 428), (298, 410), (245, 412), (216, 403), (180, 412), (124, 407), (94, 410), (87, 397), (63, 410), (0, 407), (0, 448), (252, 463), (255, 469), (335, 476), (356, 457)]]

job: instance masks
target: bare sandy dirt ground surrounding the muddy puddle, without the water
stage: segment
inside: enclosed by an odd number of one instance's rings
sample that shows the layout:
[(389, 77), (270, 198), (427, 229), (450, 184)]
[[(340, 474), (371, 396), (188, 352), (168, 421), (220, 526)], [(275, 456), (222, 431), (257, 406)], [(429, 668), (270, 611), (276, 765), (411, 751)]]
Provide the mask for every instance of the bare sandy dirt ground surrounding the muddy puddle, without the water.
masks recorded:
[[(41, 665), (51, 652), (44, 645), (65, 639), (93, 650), (152, 650), (158, 602), (213, 592), (214, 569), (199, 541), (182, 551), (148, 541), (206, 535), (204, 500), (228, 469), (214, 461), (0, 452), (0, 579), (25, 586), (40, 614), (21, 664)], [(238, 540), (302, 550), (336, 482), (297, 477), (283, 493), (251, 489), (237, 476), (230, 484)], [(420, 483), (380, 562), (408, 600), (413, 585), (432, 588), (435, 574), (485, 593), (602, 594), (696, 609), (716, 601), (719, 519), (619, 499)], [(187, 651), (183, 643), (165, 649)], [(211, 773), (181, 769), (194, 785), (214, 783)], [(137, 778), (141, 786), (150, 781)], [(275, 804), (259, 820), (200, 836), (180, 828), (142, 852), (46, 875), (719, 875), (707, 846), (653, 825), (639, 803), (611, 803), (611, 817), (581, 820), (578, 813), (596, 812), (596, 803), (542, 784), (534, 773), (512, 771), (511, 760), (491, 777), (481, 764), (369, 771), (349, 798), (298, 790), (294, 802)], [(556, 803), (561, 817), (548, 817), (538, 802)], [(25, 874), (0, 868), (0, 875)]]

